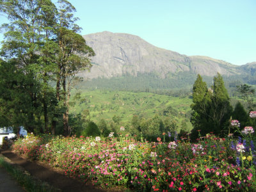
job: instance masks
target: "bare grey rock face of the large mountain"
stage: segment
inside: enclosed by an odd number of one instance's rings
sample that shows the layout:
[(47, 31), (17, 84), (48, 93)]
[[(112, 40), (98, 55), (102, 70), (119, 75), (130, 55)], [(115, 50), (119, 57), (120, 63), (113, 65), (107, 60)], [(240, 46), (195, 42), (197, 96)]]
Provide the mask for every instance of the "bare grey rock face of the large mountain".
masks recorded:
[(156, 72), (160, 77), (177, 72), (191, 72), (202, 76), (239, 74), (236, 65), (204, 56), (186, 56), (148, 44), (139, 36), (125, 33), (93, 33), (84, 35), (86, 44), (95, 51), (90, 72), (85, 78), (118, 77), (124, 74)]

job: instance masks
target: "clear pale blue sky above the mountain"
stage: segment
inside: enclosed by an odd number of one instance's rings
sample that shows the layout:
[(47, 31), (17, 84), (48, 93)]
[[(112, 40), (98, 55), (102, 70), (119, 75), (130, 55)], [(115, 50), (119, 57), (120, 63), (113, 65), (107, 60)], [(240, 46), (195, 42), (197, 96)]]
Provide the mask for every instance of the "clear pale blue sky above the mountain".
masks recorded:
[[(255, 0), (70, 0), (81, 35), (111, 31), (234, 65), (256, 61)], [(0, 15), (1, 19), (1, 15)]]

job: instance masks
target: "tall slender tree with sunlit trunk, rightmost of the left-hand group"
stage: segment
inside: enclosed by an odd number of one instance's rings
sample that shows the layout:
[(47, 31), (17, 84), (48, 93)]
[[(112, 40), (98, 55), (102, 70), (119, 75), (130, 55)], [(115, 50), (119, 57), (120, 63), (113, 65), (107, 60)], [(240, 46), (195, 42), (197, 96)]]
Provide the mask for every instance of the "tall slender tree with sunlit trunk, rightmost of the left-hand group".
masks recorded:
[[(91, 47), (86, 45), (83, 36), (78, 34), (81, 28), (77, 26), (77, 18), (73, 15), (76, 8), (66, 0), (60, 0), (58, 3), (56, 42), (58, 42), (59, 49), (56, 52), (56, 63), (58, 65), (56, 93), (65, 108), (63, 113), (63, 134), (64, 136), (69, 136), (71, 128), (68, 125), (68, 108), (72, 80), (80, 70), (89, 70), (92, 67), (90, 57), (94, 56), (95, 53)], [(63, 89), (62, 97), (60, 97), (60, 86)]]

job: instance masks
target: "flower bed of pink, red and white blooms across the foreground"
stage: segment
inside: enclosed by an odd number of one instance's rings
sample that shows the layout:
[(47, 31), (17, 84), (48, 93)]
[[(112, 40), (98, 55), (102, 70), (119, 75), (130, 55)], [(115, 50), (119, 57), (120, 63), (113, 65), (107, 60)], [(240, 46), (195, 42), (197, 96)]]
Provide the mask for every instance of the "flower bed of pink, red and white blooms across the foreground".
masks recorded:
[[(256, 117), (252, 111), (250, 116)], [(232, 120), (230, 129), (239, 122)], [(237, 129), (239, 130), (239, 129)], [(198, 130), (200, 136), (200, 130)], [(156, 142), (135, 138), (120, 127), (108, 138), (35, 136), (13, 143), (15, 152), (63, 169), (65, 175), (102, 188), (132, 191), (256, 191), (255, 132), (244, 127), (239, 136), (213, 133), (191, 143), (175, 133)]]

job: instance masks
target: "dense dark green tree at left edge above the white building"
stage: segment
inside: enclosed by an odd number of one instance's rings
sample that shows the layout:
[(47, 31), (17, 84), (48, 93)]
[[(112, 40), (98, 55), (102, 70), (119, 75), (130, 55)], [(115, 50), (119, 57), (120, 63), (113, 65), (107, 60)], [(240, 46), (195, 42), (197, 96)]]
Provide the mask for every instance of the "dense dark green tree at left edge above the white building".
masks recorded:
[(34, 127), (40, 127), (40, 119), (29, 116), (36, 114), (30, 94), (37, 89), (33, 77), (26, 76), (12, 62), (0, 61), (1, 127), (12, 126), (15, 132), (19, 132), (21, 125), (26, 127), (28, 132), (33, 132)]

